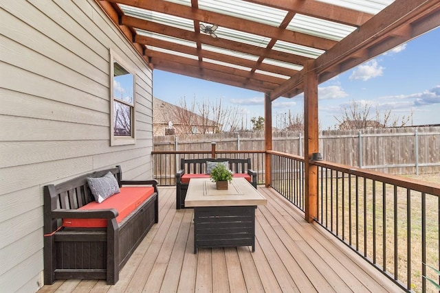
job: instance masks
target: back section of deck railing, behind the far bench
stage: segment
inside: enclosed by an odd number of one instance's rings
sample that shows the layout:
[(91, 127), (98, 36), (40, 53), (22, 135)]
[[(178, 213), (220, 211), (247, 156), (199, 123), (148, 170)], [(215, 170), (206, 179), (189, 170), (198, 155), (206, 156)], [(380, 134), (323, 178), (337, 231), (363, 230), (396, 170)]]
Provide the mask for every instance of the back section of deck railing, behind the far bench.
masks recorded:
[[(214, 154), (214, 156), (213, 156)], [(257, 184), (264, 184), (264, 155), (263, 150), (256, 151), (218, 151), (213, 148), (211, 151), (182, 151), (182, 152), (151, 152), (153, 158), (153, 176), (162, 186), (175, 185), (175, 175), (180, 167), (180, 159), (209, 159), (231, 158), (251, 159), (252, 169), (257, 174)]]

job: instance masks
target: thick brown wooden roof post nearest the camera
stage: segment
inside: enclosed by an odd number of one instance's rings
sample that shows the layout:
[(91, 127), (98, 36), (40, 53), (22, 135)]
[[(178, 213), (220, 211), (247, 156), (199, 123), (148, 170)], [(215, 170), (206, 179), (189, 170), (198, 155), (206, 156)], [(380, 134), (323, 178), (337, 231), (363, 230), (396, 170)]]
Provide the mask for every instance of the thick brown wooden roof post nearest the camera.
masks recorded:
[(305, 220), (313, 222), (318, 217), (318, 167), (309, 163), (311, 154), (319, 149), (318, 126), (318, 75), (315, 60), (304, 67), (304, 169), (305, 169)]

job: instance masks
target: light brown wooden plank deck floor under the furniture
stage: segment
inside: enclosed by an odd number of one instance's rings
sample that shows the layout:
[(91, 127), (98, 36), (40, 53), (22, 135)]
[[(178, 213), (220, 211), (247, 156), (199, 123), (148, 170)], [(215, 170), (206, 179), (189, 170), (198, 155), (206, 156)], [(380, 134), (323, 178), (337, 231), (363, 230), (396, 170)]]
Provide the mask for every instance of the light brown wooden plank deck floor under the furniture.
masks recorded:
[(192, 209), (175, 209), (175, 187), (159, 189), (159, 223), (131, 256), (115, 285), (66, 280), (43, 292), (400, 292), (272, 189), (256, 211), (250, 247), (193, 250)]

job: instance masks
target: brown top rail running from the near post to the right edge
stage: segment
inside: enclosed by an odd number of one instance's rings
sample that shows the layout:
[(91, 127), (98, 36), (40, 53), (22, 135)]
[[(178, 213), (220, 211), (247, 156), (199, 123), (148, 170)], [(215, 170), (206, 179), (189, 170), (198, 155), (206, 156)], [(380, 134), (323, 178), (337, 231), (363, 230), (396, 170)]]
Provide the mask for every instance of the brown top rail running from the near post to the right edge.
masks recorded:
[(310, 162), (313, 163), (314, 165), (344, 172), (346, 174), (360, 176), (371, 180), (377, 180), (386, 184), (396, 185), (398, 187), (417, 190), (420, 192), (424, 192), (426, 194), (432, 194), (433, 196), (440, 196), (440, 184), (437, 183), (430, 183), (427, 181), (422, 181), (412, 178), (404, 178), (401, 176), (369, 171), (357, 167), (341, 165), (327, 161), (310, 161)]

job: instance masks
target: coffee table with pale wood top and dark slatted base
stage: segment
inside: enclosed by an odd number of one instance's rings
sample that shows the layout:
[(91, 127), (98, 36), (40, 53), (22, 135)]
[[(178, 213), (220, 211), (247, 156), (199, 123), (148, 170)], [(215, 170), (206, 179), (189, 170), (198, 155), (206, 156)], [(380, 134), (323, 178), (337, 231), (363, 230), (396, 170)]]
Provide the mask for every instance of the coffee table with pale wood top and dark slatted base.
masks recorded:
[(197, 248), (252, 246), (255, 209), (266, 198), (245, 178), (233, 178), (228, 190), (217, 190), (210, 178), (191, 178), (185, 207), (194, 207), (194, 253)]

